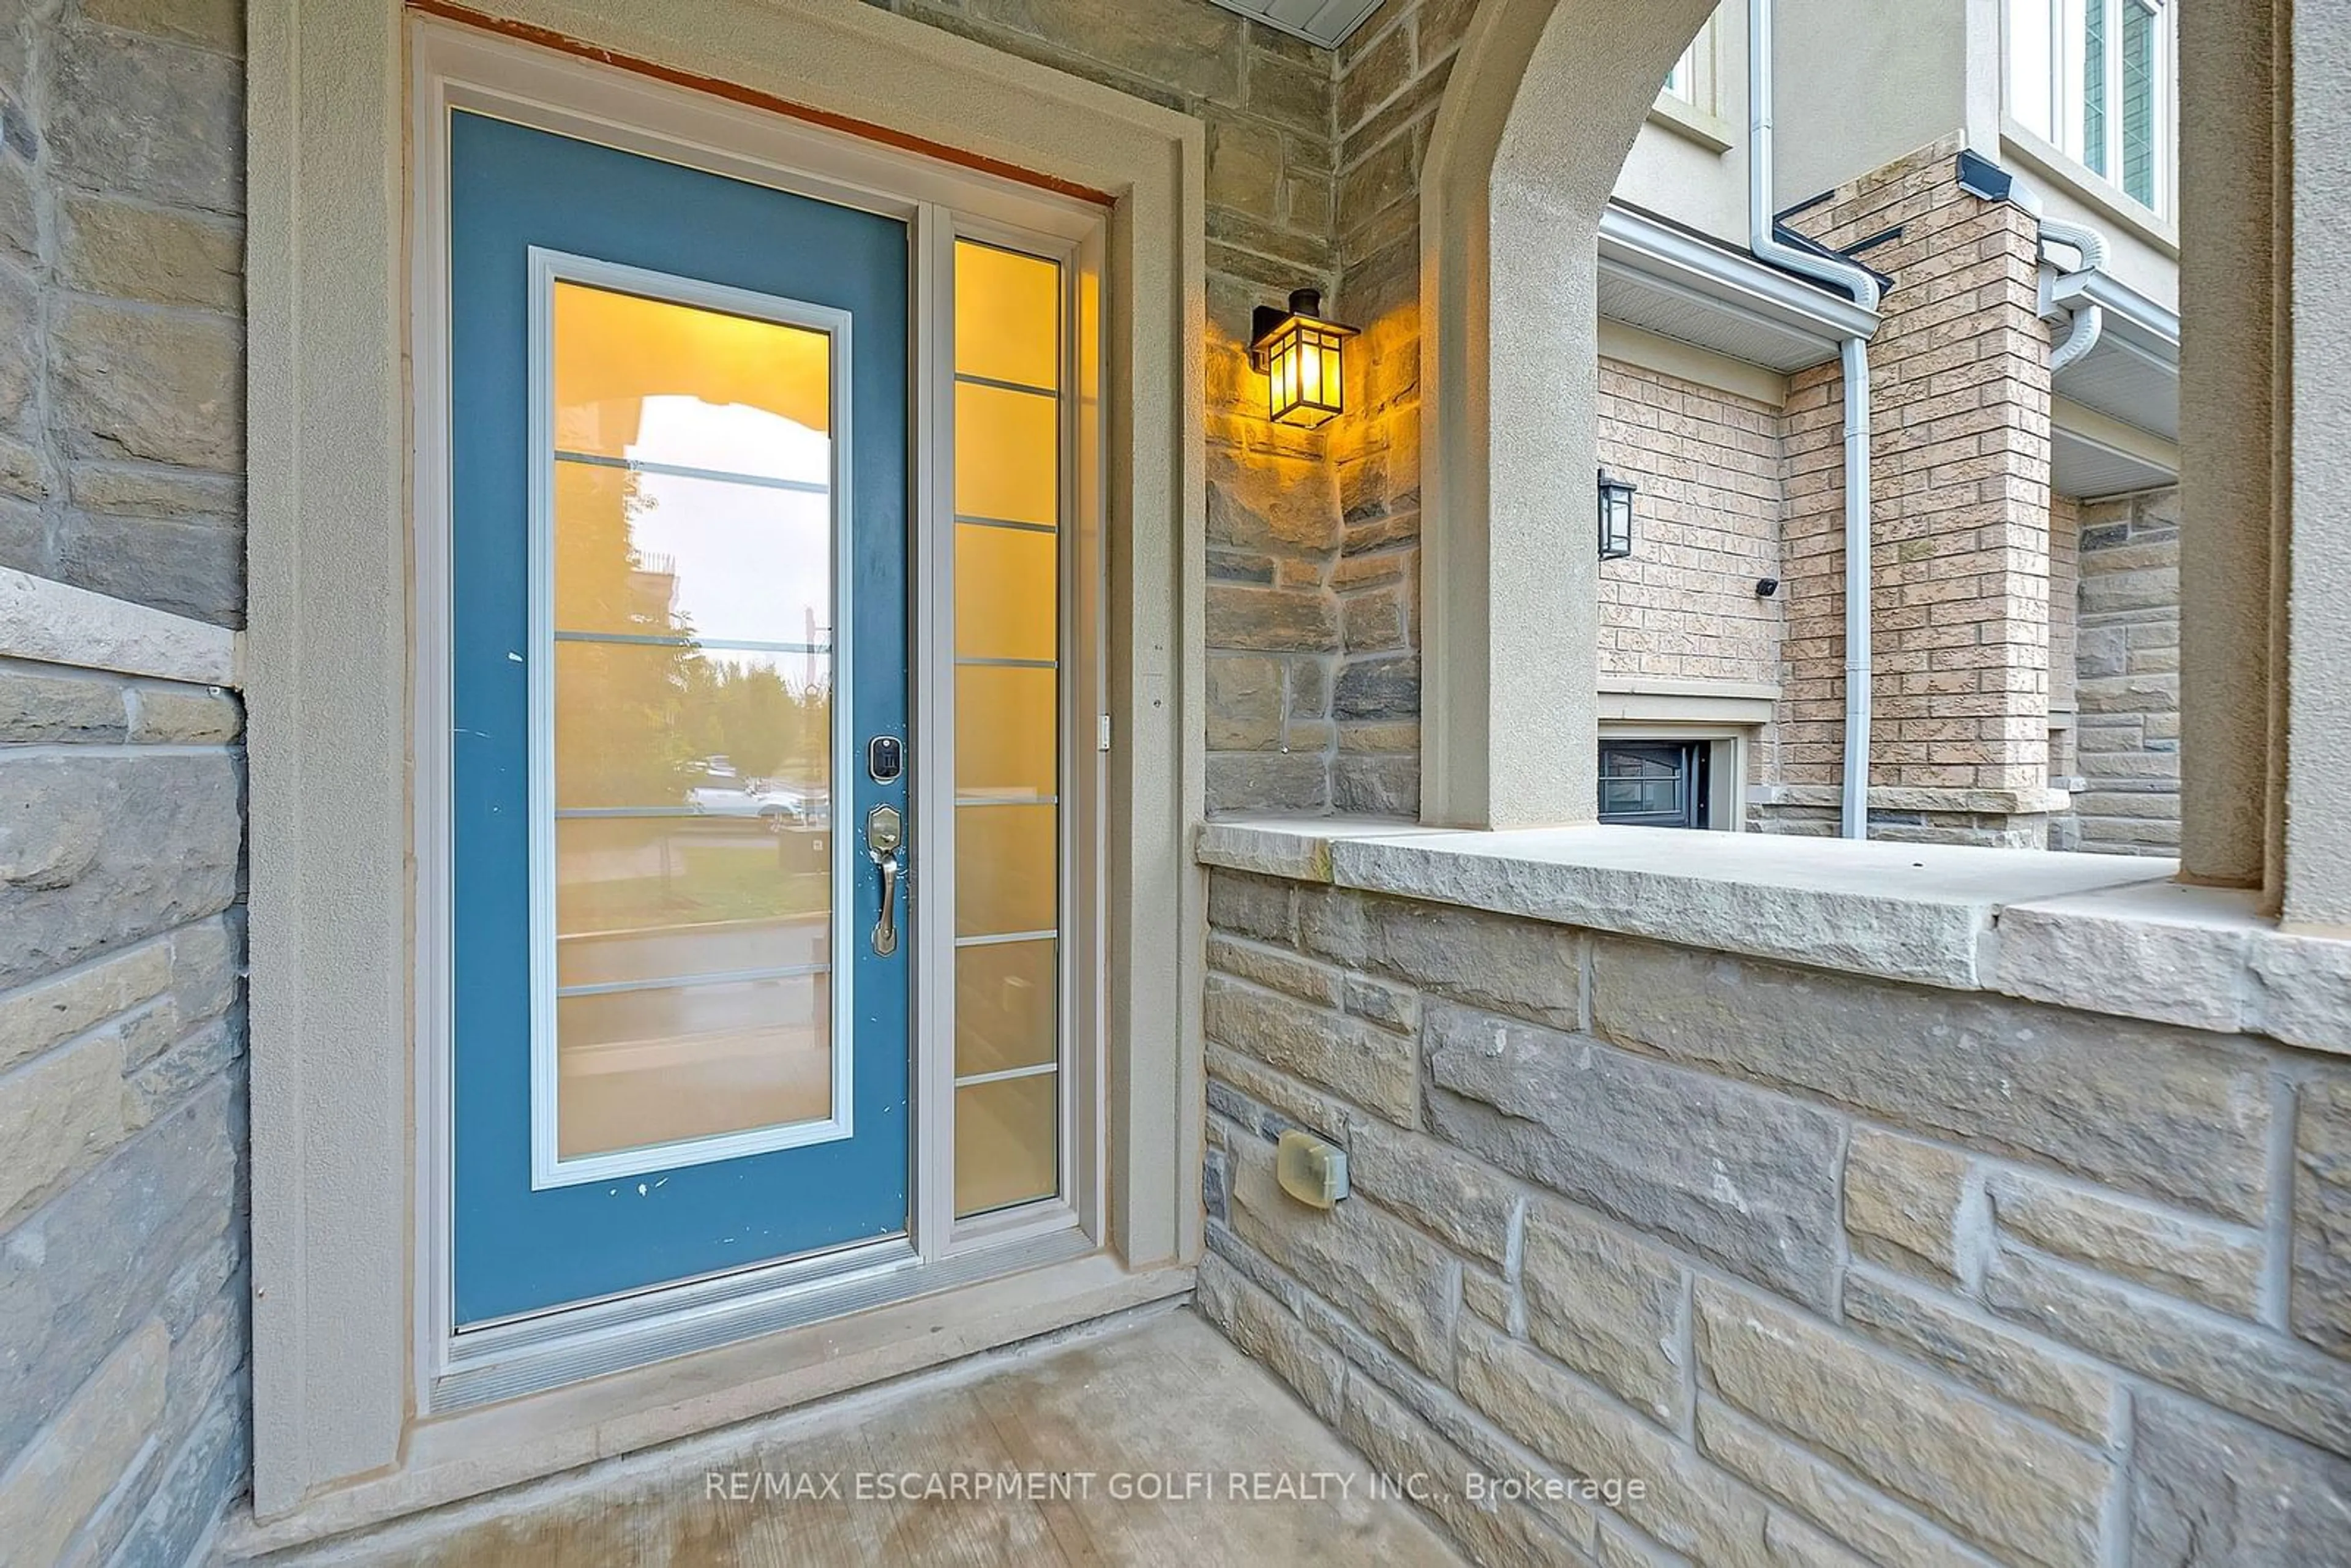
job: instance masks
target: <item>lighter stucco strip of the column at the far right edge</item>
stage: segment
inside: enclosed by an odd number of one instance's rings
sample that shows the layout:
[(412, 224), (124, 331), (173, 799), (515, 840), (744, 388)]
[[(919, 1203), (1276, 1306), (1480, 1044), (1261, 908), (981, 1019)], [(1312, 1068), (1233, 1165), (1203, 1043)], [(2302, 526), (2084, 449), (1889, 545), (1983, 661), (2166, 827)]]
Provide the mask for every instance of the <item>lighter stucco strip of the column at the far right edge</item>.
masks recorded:
[[(2186, 21), (2186, 16), (2182, 16)], [(2283, 914), (2351, 926), (2351, 33), (2339, 5), (2299, 5), (2278, 80), (2278, 181), (2292, 190), (2278, 268), (2290, 299), (2285, 343), (2290, 451), (2280, 463), (2288, 534), (2283, 599), (2285, 837)], [(2290, 148), (2290, 150), (2288, 150)]]

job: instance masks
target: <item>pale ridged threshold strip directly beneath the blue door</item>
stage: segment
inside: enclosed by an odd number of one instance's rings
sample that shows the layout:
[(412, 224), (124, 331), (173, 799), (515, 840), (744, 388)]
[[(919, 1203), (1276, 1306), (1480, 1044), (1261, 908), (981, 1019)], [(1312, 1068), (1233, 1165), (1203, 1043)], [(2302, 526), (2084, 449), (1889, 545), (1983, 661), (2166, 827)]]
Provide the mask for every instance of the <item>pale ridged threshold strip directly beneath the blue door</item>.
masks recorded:
[(428, 1410), (468, 1410), (783, 1328), (1018, 1274), (1096, 1251), (1074, 1222), (1044, 1237), (924, 1260), (907, 1237), (698, 1279), (477, 1328), (447, 1347)]

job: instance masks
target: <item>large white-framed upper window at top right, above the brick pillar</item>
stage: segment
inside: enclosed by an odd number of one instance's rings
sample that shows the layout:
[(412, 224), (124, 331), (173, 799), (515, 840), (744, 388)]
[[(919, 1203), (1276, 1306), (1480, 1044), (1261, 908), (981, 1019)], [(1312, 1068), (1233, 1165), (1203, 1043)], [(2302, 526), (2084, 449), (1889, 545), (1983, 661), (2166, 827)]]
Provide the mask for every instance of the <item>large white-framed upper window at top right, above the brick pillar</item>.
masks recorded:
[(2008, 0), (2008, 113), (2154, 212), (2175, 167), (2165, 0)]

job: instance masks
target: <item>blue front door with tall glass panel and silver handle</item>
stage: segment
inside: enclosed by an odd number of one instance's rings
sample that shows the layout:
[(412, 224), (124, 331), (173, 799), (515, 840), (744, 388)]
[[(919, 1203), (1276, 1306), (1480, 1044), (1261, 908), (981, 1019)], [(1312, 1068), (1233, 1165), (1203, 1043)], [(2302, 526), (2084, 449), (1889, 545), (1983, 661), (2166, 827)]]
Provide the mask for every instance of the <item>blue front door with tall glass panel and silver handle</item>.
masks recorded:
[(465, 1328), (907, 1229), (907, 226), (449, 158)]

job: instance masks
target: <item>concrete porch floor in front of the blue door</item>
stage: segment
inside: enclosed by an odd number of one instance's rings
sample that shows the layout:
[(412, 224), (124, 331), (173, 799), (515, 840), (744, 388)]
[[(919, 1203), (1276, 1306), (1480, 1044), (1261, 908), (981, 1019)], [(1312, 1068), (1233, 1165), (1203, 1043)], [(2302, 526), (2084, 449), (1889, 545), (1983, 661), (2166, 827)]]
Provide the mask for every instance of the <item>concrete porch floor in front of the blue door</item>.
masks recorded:
[[(875, 1497), (889, 1476), (1032, 1476), (1058, 1495)], [(1284, 1495), (1232, 1495), (1246, 1488)], [(933, 1481), (936, 1479), (936, 1481)], [(839, 1497), (823, 1497), (828, 1481)], [(1345, 1481), (1345, 1490), (1342, 1490)], [(1190, 1309), (947, 1368), (442, 1509), (273, 1563), (842, 1568), (889, 1563), (1460, 1563), (1373, 1467)], [(1161, 1490), (1145, 1497), (1140, 1493)], [(1185, 1495), (1187, 1490), (1199, 1495)], [(759, 1495), (759, 1493), (766, 1495)], [(726, 1495), (736, 1493), (736, 1495)], [(1124, 1495), (1119, 1495), (1124, 1493)], [(1319, 1495), (1317, 1495), (1319, 1493)]]

